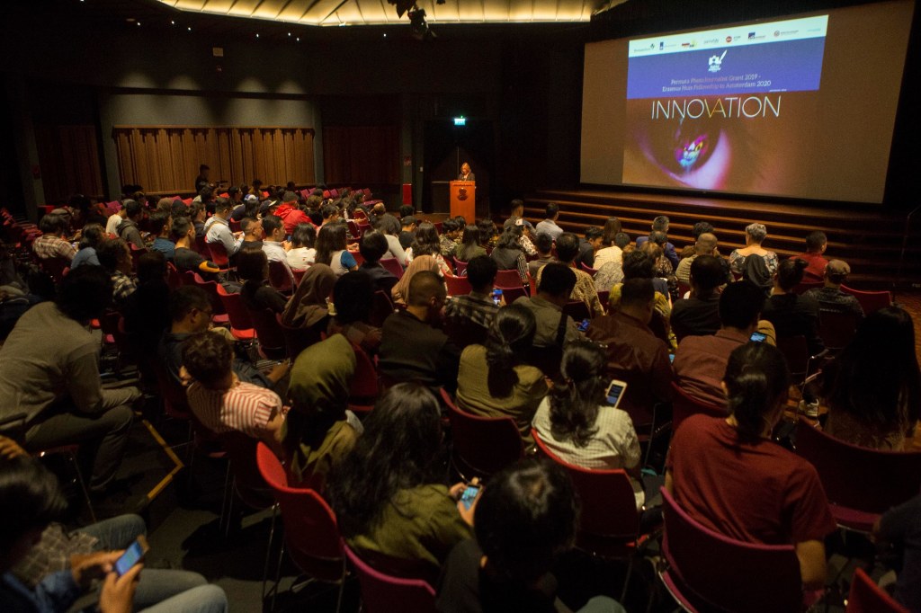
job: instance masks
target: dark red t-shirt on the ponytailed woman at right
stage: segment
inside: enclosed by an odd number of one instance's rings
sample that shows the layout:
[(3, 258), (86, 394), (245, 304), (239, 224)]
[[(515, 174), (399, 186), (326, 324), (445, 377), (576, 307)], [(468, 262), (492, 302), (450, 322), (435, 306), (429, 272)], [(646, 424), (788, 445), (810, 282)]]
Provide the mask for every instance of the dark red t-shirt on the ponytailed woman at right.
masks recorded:
[(726, 420), (694, 415), (671, 440), (666, 469), (688, 515), (737, 540), (788, 545), (835, 529), (812, 465), (773, 441), (741, 443)]

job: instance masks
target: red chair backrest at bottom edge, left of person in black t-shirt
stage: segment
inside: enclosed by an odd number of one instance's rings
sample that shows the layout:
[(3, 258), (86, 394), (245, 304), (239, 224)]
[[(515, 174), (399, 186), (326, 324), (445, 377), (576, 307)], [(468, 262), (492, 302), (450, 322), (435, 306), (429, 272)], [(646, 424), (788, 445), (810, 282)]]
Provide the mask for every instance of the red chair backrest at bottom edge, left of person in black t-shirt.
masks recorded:
[(371, 568), (345, 543), (343, 552), (358, 574), (362, 608), (367, 613), (435, 611), (435, 590), (422, 579), (402, 579), (381, 573)]

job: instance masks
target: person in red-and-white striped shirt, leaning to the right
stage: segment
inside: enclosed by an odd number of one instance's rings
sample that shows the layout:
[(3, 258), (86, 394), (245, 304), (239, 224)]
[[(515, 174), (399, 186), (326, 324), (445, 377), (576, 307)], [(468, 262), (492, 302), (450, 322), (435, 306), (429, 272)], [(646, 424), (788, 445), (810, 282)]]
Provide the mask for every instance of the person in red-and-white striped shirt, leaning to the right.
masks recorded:
[(192, 377), (189, 408), (215, 434), (237, 431), (261, 440), (281, 457), (286, 408), (271, 389), (240, 381), (233, 347), (223, 335), (199, 332), (182, 343), (182, 365)]

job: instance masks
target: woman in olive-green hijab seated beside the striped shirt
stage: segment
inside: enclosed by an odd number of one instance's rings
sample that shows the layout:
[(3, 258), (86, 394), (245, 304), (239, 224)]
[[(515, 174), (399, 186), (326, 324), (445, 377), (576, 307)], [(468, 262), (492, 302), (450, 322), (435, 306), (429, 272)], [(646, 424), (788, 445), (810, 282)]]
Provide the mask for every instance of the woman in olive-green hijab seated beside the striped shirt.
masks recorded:
[(342, 334), (302, 351), (291, 367), (282, 447), (293, 480), (321, 491), (327, 475), (356, 444), (362, 426), (348, 405), (355, 351)]

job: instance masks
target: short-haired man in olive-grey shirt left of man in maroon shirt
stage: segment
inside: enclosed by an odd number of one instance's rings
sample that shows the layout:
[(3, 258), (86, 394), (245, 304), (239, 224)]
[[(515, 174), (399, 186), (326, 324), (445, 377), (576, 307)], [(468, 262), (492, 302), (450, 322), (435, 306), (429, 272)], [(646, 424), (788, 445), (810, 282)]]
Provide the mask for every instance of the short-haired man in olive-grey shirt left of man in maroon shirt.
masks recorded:
[(527, 307), (534, 314), (535, 347), (555, 347), (562, 352), (566, 343), (581, 338), (576, 322), (563, 312), (575, 286), (576, 272), (572, 267), (550, 263), (541, 269), (537, 294), (521, 296), (515, 301), (516, 305)]

